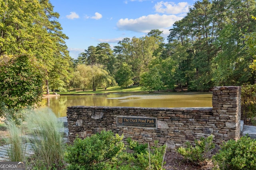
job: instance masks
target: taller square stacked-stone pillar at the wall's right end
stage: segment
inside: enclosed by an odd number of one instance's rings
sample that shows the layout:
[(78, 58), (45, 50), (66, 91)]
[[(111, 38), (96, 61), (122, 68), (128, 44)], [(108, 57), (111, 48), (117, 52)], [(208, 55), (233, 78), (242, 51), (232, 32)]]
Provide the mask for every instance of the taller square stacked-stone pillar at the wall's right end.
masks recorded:
[(216, 129), (213, 133), (217, 143), (230, 139), (239, 139), (241, 128), (241, 87), (215, 87), (212, 95), (212, 113), (217, 119)]

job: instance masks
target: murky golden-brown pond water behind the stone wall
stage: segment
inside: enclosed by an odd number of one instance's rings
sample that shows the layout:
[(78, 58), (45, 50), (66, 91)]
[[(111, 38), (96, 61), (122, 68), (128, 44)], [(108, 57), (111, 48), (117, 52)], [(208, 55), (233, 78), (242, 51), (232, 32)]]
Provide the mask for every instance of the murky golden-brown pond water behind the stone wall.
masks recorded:
[(50, 108), (57, 117), (66, 116), (68, 106), (126, 107), (212, 107), (211, 92), (110, 93), (109, 95), (60, 95), (44, 98), (41, 108)]

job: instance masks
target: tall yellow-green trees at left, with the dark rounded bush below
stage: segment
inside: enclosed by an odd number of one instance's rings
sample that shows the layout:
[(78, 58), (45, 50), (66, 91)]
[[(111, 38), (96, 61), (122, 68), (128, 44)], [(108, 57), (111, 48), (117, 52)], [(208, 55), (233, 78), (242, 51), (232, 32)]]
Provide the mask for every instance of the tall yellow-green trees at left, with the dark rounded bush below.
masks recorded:
[[(0, 0), (0, 116), (40, 102), (43, 89), (67, 87), (71, 57), (48, 0)], [(18, 116), (19, 117), (19, 116)]]

